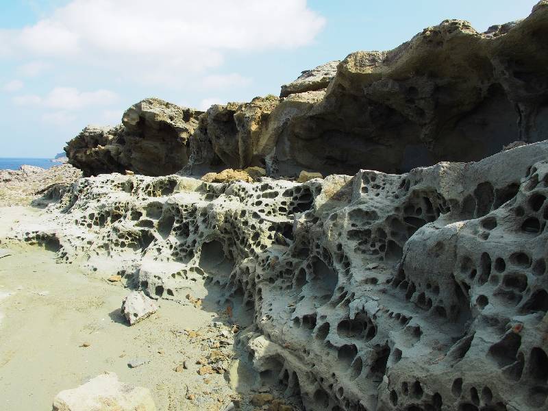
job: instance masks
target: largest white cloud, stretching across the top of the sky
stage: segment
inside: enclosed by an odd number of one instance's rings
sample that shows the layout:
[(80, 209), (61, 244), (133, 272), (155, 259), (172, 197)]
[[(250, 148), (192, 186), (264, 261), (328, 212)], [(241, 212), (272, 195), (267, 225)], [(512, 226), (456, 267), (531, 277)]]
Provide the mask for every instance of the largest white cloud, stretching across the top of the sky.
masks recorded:
[(306, 0), (210, 0), (207, 10), (195, 0), (73, 0), (32, 26), (0, 29), (0, 56), (184, 82), (232, 51), (308, 45), (323, 25)]

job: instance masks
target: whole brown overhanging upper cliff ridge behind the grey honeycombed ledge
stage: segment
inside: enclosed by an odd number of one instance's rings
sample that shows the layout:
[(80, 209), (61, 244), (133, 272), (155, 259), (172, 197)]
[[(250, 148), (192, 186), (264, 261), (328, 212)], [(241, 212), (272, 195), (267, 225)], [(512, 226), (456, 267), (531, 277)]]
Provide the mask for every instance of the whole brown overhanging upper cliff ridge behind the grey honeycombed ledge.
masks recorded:
[(485, 33), (446, 20), (396, 49), (305, 71), (279, 99), (213, 105), (201, 116), (145, 100), (123, 127), (84, 129), (67, 154), (88, 175), (167, 175), (187, 164), (194, 174), (247, 166), (273, 176), (401, 173), (477, 161), (516, 140), (547, 138), (546, 38), (544, 0), (523, 21)]

